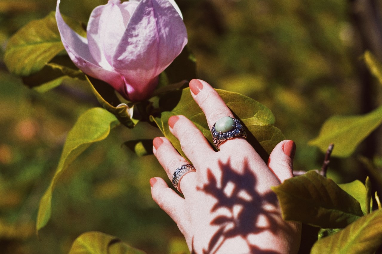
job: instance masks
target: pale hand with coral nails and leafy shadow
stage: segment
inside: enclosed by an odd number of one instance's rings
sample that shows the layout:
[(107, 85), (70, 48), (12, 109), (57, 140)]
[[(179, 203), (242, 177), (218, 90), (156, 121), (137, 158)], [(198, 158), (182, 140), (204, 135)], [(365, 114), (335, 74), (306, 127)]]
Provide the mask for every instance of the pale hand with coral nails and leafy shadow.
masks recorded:
[[(209, 84), (191, 80), (191, 94), (211, 129), (230, 109)], [(151, 178), (152, 198), (176, 222), (194, 253), (296, 253), (301, 225), (285, 222), (270, 190), (293, 176), (294, 143), (280, 142), (268, 165), (240, 137), (216, 152), (185, 116), (173, 116), (170, 131), (180, 141), (186, 161), (166, 138), (153, 141), (154, 155), (172, 179), (175, 169), (193, 164), (180, 181), (184, 198), (159, 177)]]

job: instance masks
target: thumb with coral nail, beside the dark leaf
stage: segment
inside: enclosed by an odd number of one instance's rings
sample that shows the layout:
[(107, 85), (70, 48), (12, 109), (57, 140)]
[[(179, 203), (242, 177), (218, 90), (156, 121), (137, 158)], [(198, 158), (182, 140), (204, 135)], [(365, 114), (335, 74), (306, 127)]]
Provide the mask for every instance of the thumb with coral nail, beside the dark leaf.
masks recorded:
[(293, 157), (295, 156), (295, 151), (295, 142), (284, 140), (278, 143), (269, 155), (268, 167), (281, 183), (293, 177)]

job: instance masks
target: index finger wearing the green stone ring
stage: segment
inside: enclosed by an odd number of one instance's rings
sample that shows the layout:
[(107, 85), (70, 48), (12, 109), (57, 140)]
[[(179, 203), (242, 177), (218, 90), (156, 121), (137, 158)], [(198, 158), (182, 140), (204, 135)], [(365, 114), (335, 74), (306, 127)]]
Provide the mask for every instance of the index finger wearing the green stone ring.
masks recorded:
[[(220, 95), (207, 82), (193, 79), (190, 81), (189, 87), (191, 95), (206, 116), (209, 129), (222, 117), (234, 117)], [(243, 137), (235, 137), (232, 140), (224, 141), (219, 146), (219, 149), (221, 150), (224, 146), (227, 146), (227, 144), (230, 144), (231, 147), (239, 145), (244, 146), (244, 149), (249, 149), (249, 143), (246, 142)]]

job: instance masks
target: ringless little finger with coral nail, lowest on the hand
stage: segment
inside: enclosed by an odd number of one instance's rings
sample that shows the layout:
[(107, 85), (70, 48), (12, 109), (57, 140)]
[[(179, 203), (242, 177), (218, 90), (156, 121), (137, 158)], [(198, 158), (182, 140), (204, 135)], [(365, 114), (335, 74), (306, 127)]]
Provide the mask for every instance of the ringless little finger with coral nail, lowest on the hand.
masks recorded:
[(181, 231), (185, 230), (187, 221), (182, 218), (185, 214), (185, 199), (181, 198), (160, 177), (150, 179), (151, 196), (155, 203), (175, 221)]

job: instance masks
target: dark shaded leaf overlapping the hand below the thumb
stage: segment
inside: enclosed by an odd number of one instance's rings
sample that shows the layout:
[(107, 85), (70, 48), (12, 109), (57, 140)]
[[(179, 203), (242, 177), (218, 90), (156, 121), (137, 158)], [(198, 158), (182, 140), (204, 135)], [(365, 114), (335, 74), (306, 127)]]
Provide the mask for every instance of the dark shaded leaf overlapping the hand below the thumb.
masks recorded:
[(321, 228), (344, 228), (363, 216), (359, 202), (314, 170), (272, 187), (285, 220)]

